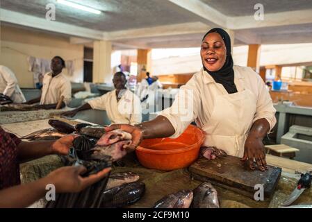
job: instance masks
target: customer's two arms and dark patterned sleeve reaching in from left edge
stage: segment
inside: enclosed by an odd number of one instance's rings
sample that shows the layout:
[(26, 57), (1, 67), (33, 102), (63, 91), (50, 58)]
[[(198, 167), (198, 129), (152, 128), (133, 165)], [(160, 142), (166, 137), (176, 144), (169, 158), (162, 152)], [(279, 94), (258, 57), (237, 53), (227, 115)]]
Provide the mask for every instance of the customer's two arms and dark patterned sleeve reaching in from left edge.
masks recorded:
[(61, 167), (44, 178), (21, 185), (20, 163), (44, 155), (67, 155), (75, 137), (67, 135), (53, 142), (23, 142), (0, 127), (0, 207), (28, 207), (45, 196), (47, 185), (54, 185), (56, 193), (72, 193), (104, 178), (110, 168), (81, 177), (87, 170), (85, 167)]

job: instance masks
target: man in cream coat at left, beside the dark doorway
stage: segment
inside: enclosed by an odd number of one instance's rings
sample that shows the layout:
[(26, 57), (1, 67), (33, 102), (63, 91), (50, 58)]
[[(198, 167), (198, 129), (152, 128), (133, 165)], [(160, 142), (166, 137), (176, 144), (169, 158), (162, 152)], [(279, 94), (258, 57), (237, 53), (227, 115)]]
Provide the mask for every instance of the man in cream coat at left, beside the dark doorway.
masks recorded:
[(64, 96), (61, 108), (65, 107), (72, 99), (72, 85), (64, 76), (62, 70), (65, 68), (65, 61), (60, 56), (51, 60), (51, 72), (44, 75), (42, 83), (42, 94), (39, 98), (28, 101), (28, 104), (38, 103), (42, 108), (56, 108), (61, 96)]

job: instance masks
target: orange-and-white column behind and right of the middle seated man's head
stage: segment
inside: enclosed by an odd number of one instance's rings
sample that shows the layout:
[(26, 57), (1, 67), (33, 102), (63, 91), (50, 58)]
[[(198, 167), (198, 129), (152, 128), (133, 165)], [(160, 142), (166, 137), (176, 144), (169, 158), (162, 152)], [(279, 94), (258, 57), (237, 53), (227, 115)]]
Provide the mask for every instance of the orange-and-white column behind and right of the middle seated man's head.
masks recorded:
[(151, 71), (151, 49), (138, 49), (138, 83), (145, 78), (147, 71)]

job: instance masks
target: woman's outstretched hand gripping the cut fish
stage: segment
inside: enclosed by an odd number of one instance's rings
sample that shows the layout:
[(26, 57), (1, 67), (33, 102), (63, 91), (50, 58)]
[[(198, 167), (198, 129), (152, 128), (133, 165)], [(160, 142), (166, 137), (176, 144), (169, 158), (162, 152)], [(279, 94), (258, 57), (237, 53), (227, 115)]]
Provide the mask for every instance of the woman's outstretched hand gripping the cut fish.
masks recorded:
[(142, 130), (137, 126), (131, 126), (129, 124), (114, 124), (105, 128), (106, 132), (117, 129), (124, 130), (125, 132), (130, 133), (132, 136), (131, 144), (124, 146), (127, 152), (134, 151), (136, 147), (142, 142)]

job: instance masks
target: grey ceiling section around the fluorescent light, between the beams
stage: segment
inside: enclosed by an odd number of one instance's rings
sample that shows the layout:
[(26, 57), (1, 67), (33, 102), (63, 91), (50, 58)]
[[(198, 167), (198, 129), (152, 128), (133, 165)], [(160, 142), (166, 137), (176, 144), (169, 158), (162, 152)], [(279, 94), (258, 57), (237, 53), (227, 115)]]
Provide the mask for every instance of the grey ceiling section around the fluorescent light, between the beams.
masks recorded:
[(101, 15), (75, 10), (55, 0), (1, 0), (1, 8), (45, 17), (47, 3), (55, 3), (56, 21), (99, 31), (120, 31), (167, 24), (196, 22), (188, 13), (168, 9), (163, 0), (71, 0), (101, 10)]

